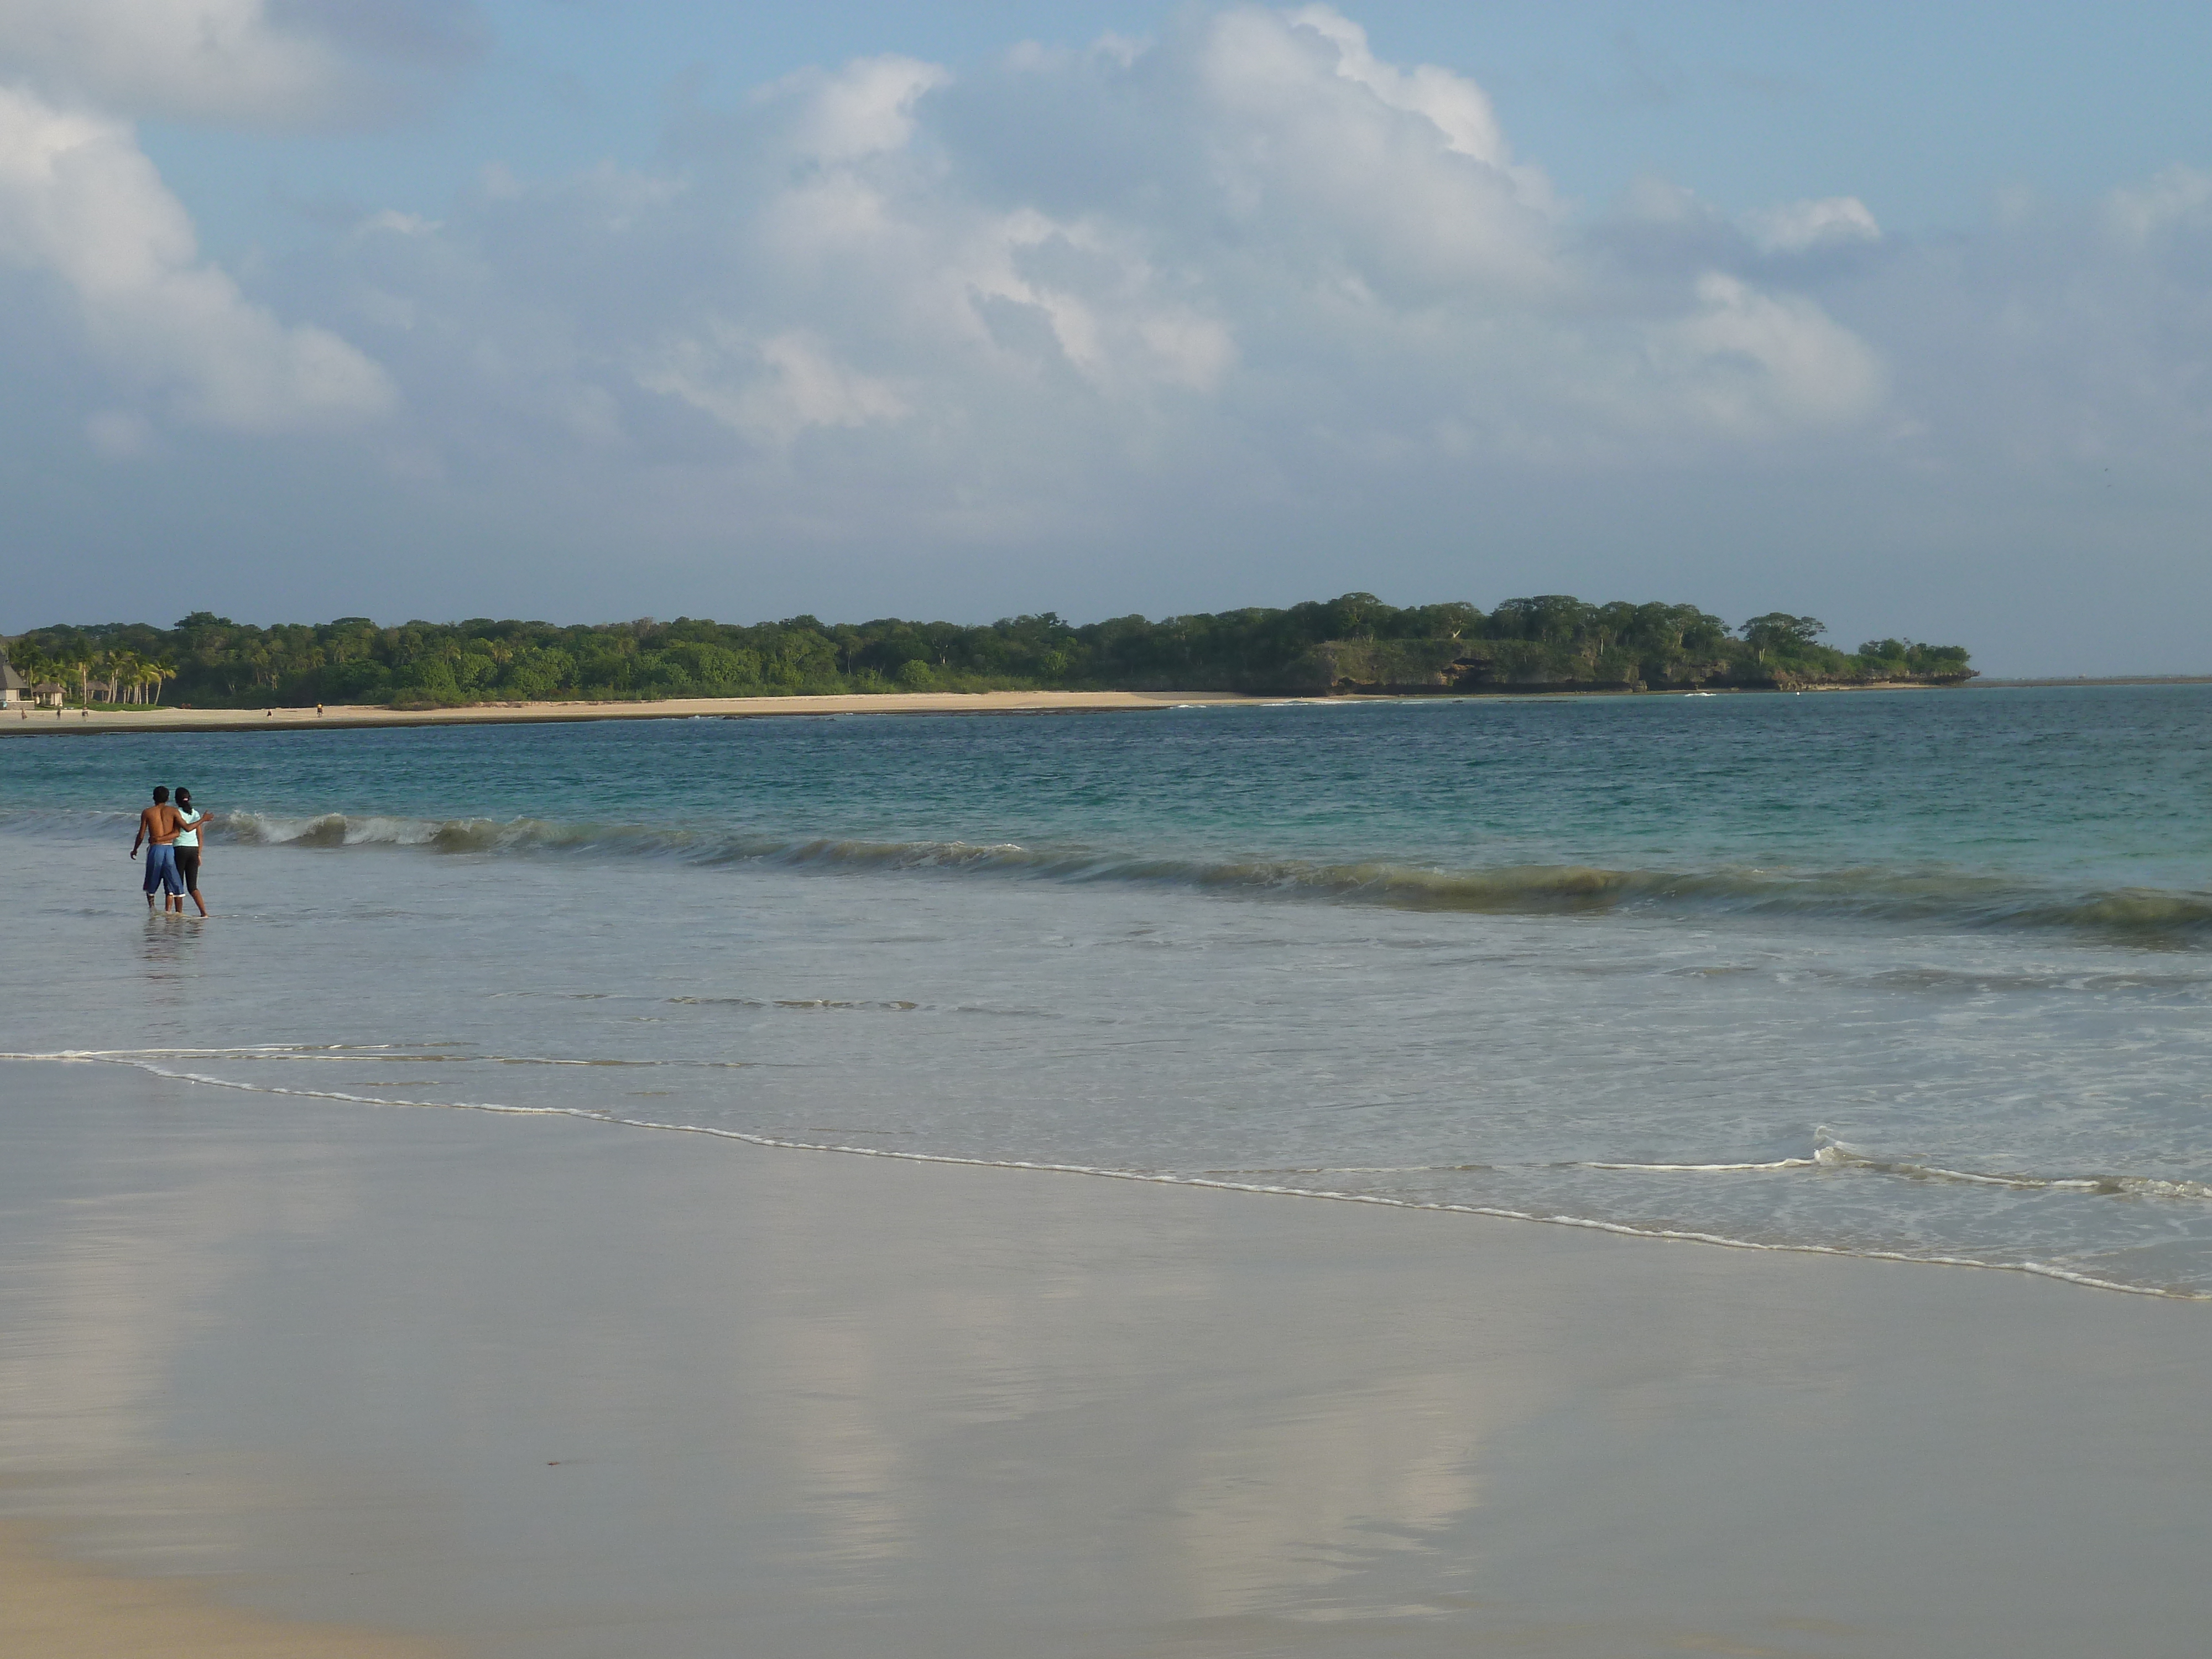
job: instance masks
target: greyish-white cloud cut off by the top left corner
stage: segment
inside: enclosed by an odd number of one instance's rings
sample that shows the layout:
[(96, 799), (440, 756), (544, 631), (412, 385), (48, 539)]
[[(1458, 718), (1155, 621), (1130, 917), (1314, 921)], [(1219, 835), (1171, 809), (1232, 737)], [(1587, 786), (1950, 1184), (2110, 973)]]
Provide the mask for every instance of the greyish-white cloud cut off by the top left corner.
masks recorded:
[(321, 126), (473, 55), (460, 0), (0, 0), (0, 71), (133, 115)]

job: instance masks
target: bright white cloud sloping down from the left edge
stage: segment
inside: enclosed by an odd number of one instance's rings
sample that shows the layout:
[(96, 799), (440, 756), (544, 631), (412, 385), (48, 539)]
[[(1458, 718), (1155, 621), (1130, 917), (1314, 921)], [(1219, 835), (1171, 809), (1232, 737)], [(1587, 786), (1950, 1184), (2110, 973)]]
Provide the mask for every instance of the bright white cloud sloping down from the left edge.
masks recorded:
[(190, 217), (126, 124), (22, 88), (0, 88), (0, 259), (60, 279), (106, 365), (188, 420), (276, 431), (394, 403), (352, 345), (279, 323), (199, 259)]

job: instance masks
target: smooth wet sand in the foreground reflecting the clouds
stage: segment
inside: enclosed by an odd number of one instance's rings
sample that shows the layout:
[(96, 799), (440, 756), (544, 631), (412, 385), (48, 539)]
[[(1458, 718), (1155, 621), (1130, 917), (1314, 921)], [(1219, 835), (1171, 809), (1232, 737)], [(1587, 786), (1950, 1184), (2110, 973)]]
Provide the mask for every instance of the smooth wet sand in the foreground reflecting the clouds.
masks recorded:
[(2203, 1650), (2197, 1303), (0, 1077), (7, 1652)]

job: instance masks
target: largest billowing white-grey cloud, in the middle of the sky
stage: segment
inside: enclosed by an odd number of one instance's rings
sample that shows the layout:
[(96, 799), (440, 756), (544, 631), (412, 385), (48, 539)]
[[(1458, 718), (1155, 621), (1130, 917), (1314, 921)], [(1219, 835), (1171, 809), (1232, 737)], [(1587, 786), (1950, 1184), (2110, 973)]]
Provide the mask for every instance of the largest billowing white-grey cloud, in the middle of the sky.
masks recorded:
[(372, 219), (330, 285), (407, 334), (387, 356), (458, 442), (582, 389), (593, 442), (637, 453), (712, 453), (670, 405), (706, 418), (739, 493), (799, 487), (752, 456), (845, 447), (869, 489), (1022, 498), (998, 522), (1026, 533), (1055, 491), (1086, 511), (1203, 453), (1559, 465), (1863, 422), (1876, 349), (1725, 252), (1624, 281), (1480, 84), (1327, 7), (1232, 7), (1146, 46), (787, 77), (657, 175)]

